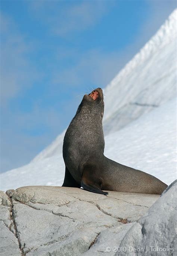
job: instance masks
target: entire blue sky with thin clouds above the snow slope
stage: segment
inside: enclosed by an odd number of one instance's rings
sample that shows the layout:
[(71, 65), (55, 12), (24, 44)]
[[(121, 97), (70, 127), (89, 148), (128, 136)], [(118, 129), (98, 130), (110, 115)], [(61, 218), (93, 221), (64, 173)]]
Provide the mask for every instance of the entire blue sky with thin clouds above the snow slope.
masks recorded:
[(1, 171), (49, 145), (80, 94), (105, 87), (175, 7), (170, 0), (1, 0)]

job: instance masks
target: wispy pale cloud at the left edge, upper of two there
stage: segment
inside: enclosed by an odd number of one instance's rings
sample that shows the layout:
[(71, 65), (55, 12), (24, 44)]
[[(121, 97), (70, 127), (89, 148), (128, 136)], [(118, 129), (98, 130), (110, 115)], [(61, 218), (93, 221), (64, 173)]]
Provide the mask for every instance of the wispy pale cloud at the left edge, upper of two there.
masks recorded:
[(26, 43), (24, 36), (18, 32), (14, 22), (1, 13), (1, 104), (29, 88), (39, 77), (28, 54), (32, 45)]

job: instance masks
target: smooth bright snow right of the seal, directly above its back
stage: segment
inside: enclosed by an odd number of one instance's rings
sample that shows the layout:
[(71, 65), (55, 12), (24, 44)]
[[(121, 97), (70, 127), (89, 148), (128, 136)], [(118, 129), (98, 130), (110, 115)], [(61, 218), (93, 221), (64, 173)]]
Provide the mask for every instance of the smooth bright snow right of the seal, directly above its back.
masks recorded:
[(177, 98), (105, 137), (105, 155), (170, 185), (176, 179)]

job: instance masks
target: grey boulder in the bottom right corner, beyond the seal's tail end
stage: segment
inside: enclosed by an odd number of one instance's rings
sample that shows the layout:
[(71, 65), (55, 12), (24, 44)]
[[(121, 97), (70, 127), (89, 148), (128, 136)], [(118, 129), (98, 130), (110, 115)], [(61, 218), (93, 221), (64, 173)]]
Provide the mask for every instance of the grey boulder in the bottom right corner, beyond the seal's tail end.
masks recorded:
[[(164, 191), (147, 213), (130, 228), (119, 244), (127, 249), (117, 255), (175, 255), (177, 252), (177, 180)], [(134, 252), (132, 252), (134, 250)]]

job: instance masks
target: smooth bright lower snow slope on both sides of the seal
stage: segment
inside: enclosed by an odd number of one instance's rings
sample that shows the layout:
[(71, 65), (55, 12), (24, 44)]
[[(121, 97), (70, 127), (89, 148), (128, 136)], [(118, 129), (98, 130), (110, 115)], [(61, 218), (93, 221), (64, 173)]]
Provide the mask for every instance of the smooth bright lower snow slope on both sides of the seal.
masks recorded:
[[(105, 137), (105, 155), (146, 171), (168, 185), (176, 179), (176, 103), (174, 98)], [(29, 185), (62, 185), (62, 154), (1, 174), (1, 190)]]

